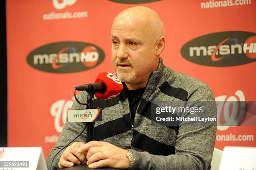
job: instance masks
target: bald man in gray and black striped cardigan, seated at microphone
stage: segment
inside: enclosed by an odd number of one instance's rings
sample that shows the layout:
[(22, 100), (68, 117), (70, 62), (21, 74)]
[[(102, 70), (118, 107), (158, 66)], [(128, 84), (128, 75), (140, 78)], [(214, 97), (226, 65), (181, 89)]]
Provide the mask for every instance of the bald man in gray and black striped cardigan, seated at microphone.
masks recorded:
[[(95, 141), (86, 143), (86, 133), (62, 151), (55, 168), (87, 164), (89, 168), (132, 170), (210, 169), (216, 125), (151, 126), (151, 102), (215, 101), (204, 83), (163, 65), (163, 24), (154, 10), (132, 7), (122, 11), (111, 30), (112, 63), (123, 91), (109, 100), (94, 100), (102, 108), (102, 122), (95, 123)], [(86, 101), (87, 93), (79, 99)], [(76, 101), (72, 110), (84, 108)], [(211, 110), (209, 115), (216, 115)], [(47, 158), (69, 143), (84, 123), (66, 122)], [(96, 141), (97, 140), (97, 141)]]

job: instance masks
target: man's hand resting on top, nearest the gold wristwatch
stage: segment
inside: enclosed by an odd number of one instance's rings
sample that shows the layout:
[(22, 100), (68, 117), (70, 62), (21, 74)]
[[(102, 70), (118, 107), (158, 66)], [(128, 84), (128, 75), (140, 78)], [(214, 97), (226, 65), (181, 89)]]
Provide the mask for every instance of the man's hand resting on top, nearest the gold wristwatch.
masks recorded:
[(89, 168), (110, 167), (126, 169), (130, 161), (126, 157), (128, 150), (119, 148), (108, 142), (90, 141), (80, 147), (86, 154)]

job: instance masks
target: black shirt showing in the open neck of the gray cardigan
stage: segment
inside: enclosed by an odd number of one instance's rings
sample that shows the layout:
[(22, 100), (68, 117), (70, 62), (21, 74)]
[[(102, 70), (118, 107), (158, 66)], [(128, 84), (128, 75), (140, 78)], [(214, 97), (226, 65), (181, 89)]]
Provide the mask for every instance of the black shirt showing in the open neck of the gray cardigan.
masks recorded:
[(128, 94), (128, 100), (130, 103), (131, 121), (132, 121), (132, 124), (134, 124), (135, 113), (146, 87), (136, 89), (136, 90), (129, 90), (126, 87), (126, 85), (123, 85), (123, 86), (124, 86), (125, 92)]

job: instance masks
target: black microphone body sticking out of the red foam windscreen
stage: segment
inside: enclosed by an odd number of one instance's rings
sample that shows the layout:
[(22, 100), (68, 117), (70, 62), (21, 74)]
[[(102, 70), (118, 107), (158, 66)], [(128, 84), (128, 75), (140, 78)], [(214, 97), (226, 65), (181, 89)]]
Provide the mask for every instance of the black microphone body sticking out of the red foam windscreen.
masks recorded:
[(78, 85), (75, 87), (78, 91), (87, 91), (91, 92), (92, 90), (99, 93), (105, 93), (107, 86), (103, 82), (89, 83), (84, 85)]

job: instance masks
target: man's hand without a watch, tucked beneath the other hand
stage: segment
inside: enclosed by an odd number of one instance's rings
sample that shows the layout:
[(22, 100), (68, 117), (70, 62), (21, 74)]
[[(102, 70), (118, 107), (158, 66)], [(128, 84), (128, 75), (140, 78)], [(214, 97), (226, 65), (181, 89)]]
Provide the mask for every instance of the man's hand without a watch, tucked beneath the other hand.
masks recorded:
[(81, 162), (86, 163), (86, 155), (82, 152), (80, 146), (83, 146), (82, 142), (74, 142), (68, 146), (59, 159), (59, 168), (72, 167), (74, 164), (79, 165)]

